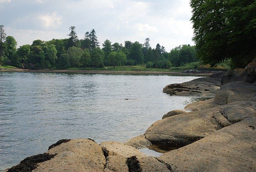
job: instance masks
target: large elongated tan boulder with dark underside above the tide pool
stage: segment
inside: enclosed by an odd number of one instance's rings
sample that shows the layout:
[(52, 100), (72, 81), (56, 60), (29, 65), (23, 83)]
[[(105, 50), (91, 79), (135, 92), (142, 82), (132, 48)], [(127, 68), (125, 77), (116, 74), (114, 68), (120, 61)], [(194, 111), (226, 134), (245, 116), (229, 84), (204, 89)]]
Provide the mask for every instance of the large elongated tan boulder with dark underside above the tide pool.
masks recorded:
[(145, 136), (152, 143), (185, 146), (223, 127), (256, 116), (256, 102), (233, 102), (164, 118), (150, 126)]

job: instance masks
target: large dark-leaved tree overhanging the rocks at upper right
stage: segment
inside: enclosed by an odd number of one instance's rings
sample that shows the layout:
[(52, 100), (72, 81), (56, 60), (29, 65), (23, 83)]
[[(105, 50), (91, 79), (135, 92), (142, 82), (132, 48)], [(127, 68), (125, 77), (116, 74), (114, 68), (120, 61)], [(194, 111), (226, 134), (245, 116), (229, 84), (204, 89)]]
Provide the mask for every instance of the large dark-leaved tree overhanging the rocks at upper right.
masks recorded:
[(256, 1), (191, 0), (197, 56), (214, 66), (232, 59), (244, 67), (256, 56)]

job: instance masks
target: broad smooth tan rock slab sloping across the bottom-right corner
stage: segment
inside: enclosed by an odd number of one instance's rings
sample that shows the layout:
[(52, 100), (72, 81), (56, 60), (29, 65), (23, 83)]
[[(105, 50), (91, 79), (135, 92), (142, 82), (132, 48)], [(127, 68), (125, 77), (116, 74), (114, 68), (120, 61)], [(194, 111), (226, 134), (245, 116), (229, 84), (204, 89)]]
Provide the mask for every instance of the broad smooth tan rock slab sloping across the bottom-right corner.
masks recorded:
[(158, 157), (173, 172), (255, 172), (256, 117), (248, 117)]

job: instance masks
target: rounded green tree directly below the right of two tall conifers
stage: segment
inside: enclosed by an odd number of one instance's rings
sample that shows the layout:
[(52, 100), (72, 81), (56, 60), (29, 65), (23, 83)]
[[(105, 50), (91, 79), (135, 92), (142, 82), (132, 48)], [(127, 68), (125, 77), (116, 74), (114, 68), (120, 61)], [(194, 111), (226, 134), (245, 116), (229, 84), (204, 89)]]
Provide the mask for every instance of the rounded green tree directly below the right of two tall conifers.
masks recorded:
[(91, 60), (92, 66), (95, 68), (104, 67), (103, 64), (104, 52), (99, 47), (92, 49)]

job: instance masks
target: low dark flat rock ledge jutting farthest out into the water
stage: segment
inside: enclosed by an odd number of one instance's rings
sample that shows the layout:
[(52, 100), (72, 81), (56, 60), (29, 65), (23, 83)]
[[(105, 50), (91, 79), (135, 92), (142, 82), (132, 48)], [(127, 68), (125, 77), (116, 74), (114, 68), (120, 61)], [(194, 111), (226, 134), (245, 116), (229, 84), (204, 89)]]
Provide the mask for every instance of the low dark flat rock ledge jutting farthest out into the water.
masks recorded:
[(220, 88), (220, 81), (224, 74), (225, 72), (219, 72), (208, 77), (183, 82), (182, 84), (170, 84), (164, 87), (163, 92), (171, 96), (214, 97)]

